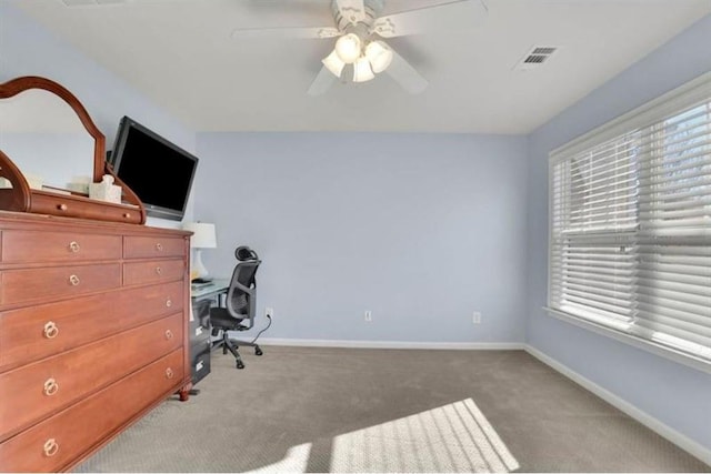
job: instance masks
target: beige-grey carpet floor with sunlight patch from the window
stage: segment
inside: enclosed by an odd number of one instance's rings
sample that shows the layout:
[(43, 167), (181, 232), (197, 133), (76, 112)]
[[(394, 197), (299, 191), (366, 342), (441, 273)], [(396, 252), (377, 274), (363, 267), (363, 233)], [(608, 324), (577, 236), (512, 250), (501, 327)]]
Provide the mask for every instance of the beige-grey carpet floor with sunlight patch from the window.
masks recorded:
[(79, 472), (711, 472), (522, 351), (214, 352)]

